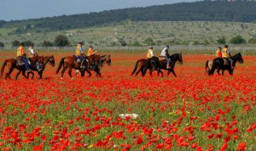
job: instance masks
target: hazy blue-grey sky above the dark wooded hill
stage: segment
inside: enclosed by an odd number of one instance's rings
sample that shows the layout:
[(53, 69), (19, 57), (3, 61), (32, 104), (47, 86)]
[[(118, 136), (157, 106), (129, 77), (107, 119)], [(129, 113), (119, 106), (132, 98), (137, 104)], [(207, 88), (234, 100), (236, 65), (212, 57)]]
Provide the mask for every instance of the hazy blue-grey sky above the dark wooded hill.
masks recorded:
[(0, 20), (39, 19), (183, 2), (195, 0), (1, 0)]

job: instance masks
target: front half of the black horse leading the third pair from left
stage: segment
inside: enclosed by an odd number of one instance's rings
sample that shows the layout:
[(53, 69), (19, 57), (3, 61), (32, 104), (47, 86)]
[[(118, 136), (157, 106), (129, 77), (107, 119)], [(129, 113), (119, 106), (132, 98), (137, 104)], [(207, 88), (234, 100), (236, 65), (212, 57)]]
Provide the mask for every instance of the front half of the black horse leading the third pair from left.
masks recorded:
[(169, 76), (170, 73), (172, 72), (173, 76), (177, 77), (175, 71), (174, 71), (174, 67), (176, 62), (178, 62), (179, 64), (183, 64), (183, 55), (182, 53), (173, 53), (171, 56), (168, 57), (169, 59), (171, 59), (170, 61), (170, 67), (169, 69), (166, 68), (167, 62), (165, 59), (160, 60), (160, 69), (162, 70), (167, 70), (167, 75)]

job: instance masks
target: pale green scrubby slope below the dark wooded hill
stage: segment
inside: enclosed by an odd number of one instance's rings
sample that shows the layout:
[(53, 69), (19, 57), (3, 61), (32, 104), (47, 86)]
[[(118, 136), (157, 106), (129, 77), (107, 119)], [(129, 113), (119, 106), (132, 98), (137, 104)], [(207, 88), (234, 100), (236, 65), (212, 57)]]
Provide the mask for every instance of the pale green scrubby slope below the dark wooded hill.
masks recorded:
[[(105, 46), (118, 38), (125, 42), (143, 42), (149, 36), (154, 42), (205, 42), (216, 43), (219, 36), (225, 36), (227, 41), (233, 36), (242, 36), (246, 40), (256, 36), (256, 24), (239, 22), (212, 21), (125, 21), (105, 27), (73, 29), (69, 31), (53, 31), (9, 36), (14, 29), (0, 29), (0, 42), (32, 41), (39, 44), (43, 41), (55, 40), (55, 36), (64, 34), (72, 43), (84, 41), (96, 46)], [(69, 35), (68, 35), (69, 34)]]

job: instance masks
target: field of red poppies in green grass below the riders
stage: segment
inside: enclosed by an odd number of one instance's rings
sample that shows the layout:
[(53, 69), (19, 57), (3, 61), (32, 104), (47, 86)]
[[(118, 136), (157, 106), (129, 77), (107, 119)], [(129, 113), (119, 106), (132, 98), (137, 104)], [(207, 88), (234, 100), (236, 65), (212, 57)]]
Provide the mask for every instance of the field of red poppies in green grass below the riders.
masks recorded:
[[(110, 53), (102, 77), (61, 80), (72, 53), (42, 54), (55, 56), (43, 80), (0, 79), (2, 150), (256, 150), (256, 56), (234, 76), (205, 76), (214, 56), (183, 54), (177, 77), (142, 77), (130, 73), (144, 53)], [(1, 67), (14, 56), (1, 52)]]

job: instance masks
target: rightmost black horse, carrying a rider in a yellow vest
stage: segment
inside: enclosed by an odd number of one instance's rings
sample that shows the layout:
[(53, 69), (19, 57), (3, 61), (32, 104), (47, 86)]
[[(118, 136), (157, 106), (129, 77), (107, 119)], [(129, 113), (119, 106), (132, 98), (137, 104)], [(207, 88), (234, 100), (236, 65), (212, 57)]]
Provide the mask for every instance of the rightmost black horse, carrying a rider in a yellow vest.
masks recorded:
[[(243, 64), (243, 59), (241, 57), (241, 53), (236, 53), (234, 56), (230, 57), (233, 59), (234, 66), (236, 66), (236, 62), (238, 61), (240, 64)], [(206, 70), (207, 70), (207, 64), (206, 64)], [(212, 60), (212, 68), (208, 71), (209, 76), (213, 76), (214, 70), (217, 70), (218, 75), (219, 70), (222, 70), (222, 76), (224, 76), (224, 70), (228, 70), (230, 75), (233, 75), (234, 69), (231, 68), (230, 64), (224, 64), (223, 58), (216, 58)]]

